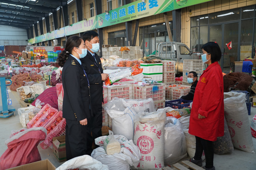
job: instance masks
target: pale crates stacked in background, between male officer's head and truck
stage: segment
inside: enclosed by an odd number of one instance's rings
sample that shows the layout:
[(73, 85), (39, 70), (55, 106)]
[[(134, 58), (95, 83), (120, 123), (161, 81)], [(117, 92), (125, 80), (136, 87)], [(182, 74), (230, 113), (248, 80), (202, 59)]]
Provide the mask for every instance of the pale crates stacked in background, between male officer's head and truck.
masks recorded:
[(127, 46), (128, 51), (120, 51), (121, 47), (102, 47), (102, 58), (109, 59), (111, 55), (117, 55), (122, 59), (138, 60), (143, 58), (143, 53), (139, 46)]

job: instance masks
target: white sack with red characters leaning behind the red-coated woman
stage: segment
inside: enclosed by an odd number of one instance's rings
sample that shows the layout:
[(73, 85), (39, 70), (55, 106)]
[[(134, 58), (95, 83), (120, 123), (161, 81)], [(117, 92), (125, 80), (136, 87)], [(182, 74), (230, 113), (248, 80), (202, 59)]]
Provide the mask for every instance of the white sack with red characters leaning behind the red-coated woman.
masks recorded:
[(255, 153), (245, 94), (237, 92), (224, 93), (224, 111), (233, 146), (242, 151)]

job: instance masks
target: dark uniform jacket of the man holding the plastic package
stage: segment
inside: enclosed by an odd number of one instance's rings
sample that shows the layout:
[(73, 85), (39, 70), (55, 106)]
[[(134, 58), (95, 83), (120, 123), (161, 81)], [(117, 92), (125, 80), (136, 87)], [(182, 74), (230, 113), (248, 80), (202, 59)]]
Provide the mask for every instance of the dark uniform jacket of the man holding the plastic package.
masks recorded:
[[(91, 92), (91, 103), (93, 105), (102, 104), (103, 102), (103, 82), (101, 78), (101, 73), (103, 73), (101, 59), (94, 53), (97, 62), (89, 51), (87, 55), (80, 59), (82, 66), (86, 71), (90, 83)], [(101, 71), (101, 73), (99, 72)]]

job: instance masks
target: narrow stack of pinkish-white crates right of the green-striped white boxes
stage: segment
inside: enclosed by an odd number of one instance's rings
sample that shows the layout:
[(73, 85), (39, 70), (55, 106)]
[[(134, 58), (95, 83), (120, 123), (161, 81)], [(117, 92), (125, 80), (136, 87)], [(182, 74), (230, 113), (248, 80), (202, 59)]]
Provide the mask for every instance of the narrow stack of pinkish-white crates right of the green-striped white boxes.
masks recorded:
[(163, 83), (175, 83), (175, 61), (163, 60)]

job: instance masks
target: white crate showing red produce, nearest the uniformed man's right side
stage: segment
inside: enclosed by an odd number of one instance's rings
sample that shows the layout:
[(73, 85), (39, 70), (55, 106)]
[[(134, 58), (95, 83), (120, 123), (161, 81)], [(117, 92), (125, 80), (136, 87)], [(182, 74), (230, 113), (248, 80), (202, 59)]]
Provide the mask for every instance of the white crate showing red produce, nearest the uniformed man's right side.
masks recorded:
[(132, 84), (121, 84), (107, 86), (108, 102), (113, 98), (132, 99)]

